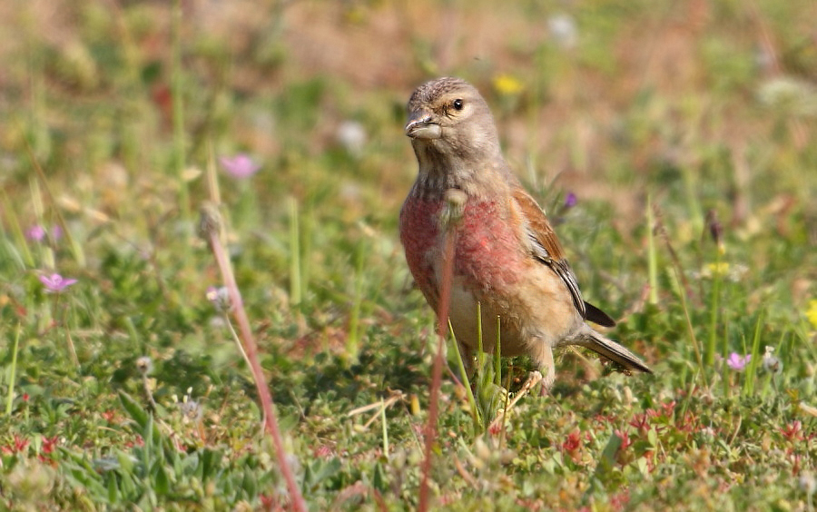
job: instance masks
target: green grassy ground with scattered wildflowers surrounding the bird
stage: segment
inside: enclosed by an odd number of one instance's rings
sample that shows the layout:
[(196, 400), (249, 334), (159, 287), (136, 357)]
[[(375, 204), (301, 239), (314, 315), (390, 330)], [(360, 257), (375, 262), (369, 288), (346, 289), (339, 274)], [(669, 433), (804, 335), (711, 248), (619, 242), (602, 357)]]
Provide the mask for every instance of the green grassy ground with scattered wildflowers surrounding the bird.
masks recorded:
[(530, 361), (471, 394), (448, 341), (430, 507), (813, 509), (814, 6), (435, 8), (0, 6), (0, 507), (291, 506), (207, 298), (213, 197), (307, 507), (418, 507), (437, 327), (397, 234), (403, 104), (458, 74), (655, 376), (567, 352), (506, 408)]

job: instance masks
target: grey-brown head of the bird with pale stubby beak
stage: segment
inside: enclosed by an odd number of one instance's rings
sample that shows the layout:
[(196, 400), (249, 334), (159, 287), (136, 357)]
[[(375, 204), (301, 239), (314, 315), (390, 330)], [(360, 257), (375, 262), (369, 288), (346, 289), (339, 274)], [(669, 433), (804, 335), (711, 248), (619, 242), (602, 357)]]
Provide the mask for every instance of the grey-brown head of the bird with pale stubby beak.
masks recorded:
[(420, 174), (445, 172), (468, 178), (480, 165), (504, 166), (487, 103), (473, 85), (459, 78), (438, 78), (411, 94), (406, 134)]

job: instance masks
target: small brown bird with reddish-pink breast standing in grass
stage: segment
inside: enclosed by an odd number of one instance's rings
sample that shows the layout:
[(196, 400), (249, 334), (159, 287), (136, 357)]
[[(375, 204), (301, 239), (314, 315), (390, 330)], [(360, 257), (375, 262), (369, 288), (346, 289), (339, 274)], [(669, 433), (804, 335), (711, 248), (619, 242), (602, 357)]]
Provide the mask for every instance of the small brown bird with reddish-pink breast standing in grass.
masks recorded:
[[(644, 361), (586, 324), (615, 321), (582, 299), (545, 212), (510, 171), (494, 118), (477, 89), (458, 78), (422, 84), (408, 100), (406, 135), (418, 178), (400, 211), (400, 241), (408, 269), (438, 311), (447, 236), (453, 236), (448, 320), (468, 368), (482, 346), (501, 355), (527, 354), (547, 391), (556, 379), (553, 349), (576, 345), (625, 370), (652, 373)], [(447, 197), (460, 198), (447, 222)], [(479, 315), (477, 315), (477, 304)]]

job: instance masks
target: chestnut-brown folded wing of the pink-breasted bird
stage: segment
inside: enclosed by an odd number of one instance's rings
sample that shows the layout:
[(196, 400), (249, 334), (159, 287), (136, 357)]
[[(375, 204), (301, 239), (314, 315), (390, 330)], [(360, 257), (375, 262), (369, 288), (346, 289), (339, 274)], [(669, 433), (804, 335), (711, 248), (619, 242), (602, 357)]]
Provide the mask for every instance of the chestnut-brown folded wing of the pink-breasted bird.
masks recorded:
[[(556, 275), (565, 283), (567, 290), (570, 291), (576, 310), (581, 313), (582, 318), (586, 318), (586, 303), (582, 299), (582, 292), (576, 282), (576, 275), (565, 259), (565, 251), (562, 249), (559, 239), (556, 238), (556, 232), (553, 231), (553, 227), (547, 221), (545, 212), (522, 188), (516, 188), (513, 196), (527, 220), (527, 236), (531, 241), (531, 255), (556, 272)], [(596, 308), (593, 308), (593, 310), (595, 312)]]

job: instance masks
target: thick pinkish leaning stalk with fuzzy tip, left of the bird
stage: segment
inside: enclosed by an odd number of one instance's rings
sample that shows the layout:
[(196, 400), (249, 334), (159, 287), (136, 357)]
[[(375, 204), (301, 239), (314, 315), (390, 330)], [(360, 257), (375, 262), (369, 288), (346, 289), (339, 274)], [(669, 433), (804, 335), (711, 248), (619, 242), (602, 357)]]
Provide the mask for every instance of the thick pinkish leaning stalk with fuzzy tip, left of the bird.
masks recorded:
[(283, 438), (281, 438), (281, 429), (278, 426), (278, 417), (275, 414), (275, 409), (272, 404), (272, 395), (270, 388), (266, 385), (267, 380), (264, 378), (264, 372), (263, 369), (261, 369), (261, 362), (258, 358), (258, 348), (252, 336), (250, 319), (247, 317), (247, 311), (244, 310), (244, 305), (241, 301), (241, 292), (235, 282), (235, 276), (232, 273), (227, 251), (224, 250), (224, 246), (221, 244), (219, 237), (220, 226), (221, 215), (218, 208), (212, 204), (205, 204), (202, 207), (202, 235), (210, 244), (213, 256), (221, 271), (221, 278), (227, 290), (230, 292), (230, 299), (234, 308), (233, 315), (238, 321), (239, 330), (241, 330), (241, 336), (247, 350), (247, 359), (249, 359), (250, 369), (252, 370), (252, 378), (255, 380), (255, 387), (258, 389), (258, 396), (261, 400), (261, 409), (264, 412), (264, 428), (270, 434), (272, 443), (275, 446), (278, 466), (281, 469), (284, 480), (286, 480), (292, 508), (298, 512), (306, 512), (306, 503), (300, 494), (300, 488), (287, 460)]

